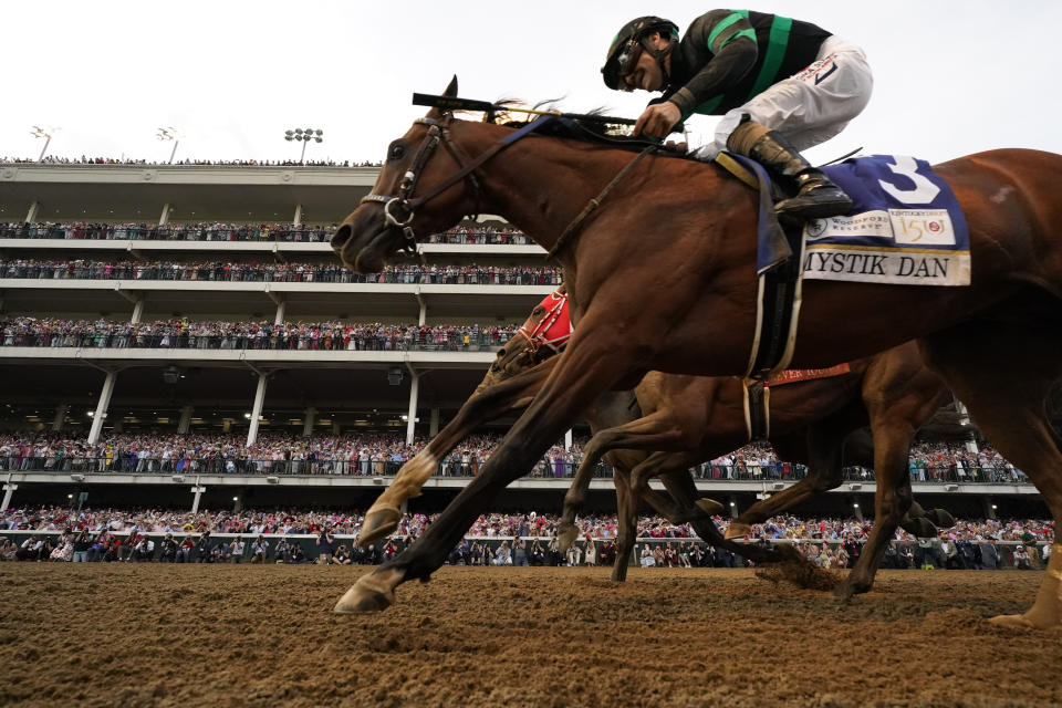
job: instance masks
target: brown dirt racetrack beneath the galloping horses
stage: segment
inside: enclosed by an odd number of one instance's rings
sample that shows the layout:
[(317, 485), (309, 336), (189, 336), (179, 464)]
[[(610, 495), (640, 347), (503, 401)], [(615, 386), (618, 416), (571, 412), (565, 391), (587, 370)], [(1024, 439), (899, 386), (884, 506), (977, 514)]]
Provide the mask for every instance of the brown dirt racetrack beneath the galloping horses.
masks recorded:
[(882, 574), (850, 605), (751, 571), (0, 565), (3, 706), (1047, 706), (1062, 633), (983, 617), (1040, 573)]

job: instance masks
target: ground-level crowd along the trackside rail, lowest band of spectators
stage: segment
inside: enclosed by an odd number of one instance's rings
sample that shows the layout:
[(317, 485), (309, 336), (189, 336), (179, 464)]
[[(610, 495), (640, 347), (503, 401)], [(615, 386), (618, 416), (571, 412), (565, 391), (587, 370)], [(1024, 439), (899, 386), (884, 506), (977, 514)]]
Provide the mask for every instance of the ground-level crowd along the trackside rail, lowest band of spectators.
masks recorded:
[[(324, 562), (378, 563), (393, 558), (434, 520), (434, 514), (404, 514), (389, 539), (362, 550), (352, 539), (343, 538), (361, 529), (364, 517), (360, 512), (7, 509), (0, 510), (0, 531), (40, 533), (21, 534), (17, 541), (3, 538), (0, 560), (301, 563), (312, 559), (298, 539), (289, 537), (309, 535), (315, 538), (313, 556)], [(559, 521), (535, 512), (482, 514), (449, 561), (465, 565), (612, 564), (618, 531), (614, 516), (581, 519), (579, 540), (563, 554), (556, 543)], [(717, 517), (716, 523), (726, 531), (726, 519)], [(842, 569), (854, 565), (871, 527), (860, 519), (785, 516), (756, 524), (749, 540), (761, 545), (795, 543), (820, 568)], [(162, 548), (156, 549), (152, 537), (159, 535)], [(688, 525), (670, 524), (660, 518), (643, 519), (637, 535), (642, 542), (635, 546), (634, 556), (646, 568), (745, 563), (722, 549), (706, 545)], [(1047, 563), (1054, 523), (1032, 519), (960, 520), (928, 538), (915, 538), (898, 529), (893, 541), (884, 560), (886, 568), (1031, 570)]]

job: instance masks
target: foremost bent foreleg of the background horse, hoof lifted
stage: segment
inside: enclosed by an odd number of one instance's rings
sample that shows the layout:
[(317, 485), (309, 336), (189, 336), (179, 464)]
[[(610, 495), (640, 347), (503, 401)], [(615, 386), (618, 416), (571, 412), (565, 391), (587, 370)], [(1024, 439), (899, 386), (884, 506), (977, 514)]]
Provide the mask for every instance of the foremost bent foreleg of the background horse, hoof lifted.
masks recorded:
[(583, 448), (583, 461), (575, 472), (572, 486), (564, 494), (564, 511), (558, 527), (558, 548), (561, 552), (575, 541), (579, 530), (575, 517), (586, 501), (586, 491), (593, 478), (594, 467), (612, 450), (659, 450), (671, 449), (680, 445), (681, 431), (667, 425), (668, 418), (658, 413), (614, 428), (598, 431)]

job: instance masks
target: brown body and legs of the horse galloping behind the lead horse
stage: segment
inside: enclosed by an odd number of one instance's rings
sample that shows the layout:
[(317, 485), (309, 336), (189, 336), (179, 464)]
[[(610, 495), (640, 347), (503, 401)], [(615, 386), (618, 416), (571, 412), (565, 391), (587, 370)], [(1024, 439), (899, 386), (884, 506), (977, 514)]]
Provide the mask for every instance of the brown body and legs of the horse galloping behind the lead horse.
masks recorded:
[[(635, 394), (644, 417), (596, 433), (584, 449), (583, 462), (564, 499), (562, 545), (574, 540), (575, 513), (603, 454), (616, 449), (647, 454), (629, 472), (629, 486), (637, 498), (648, 491), (649, 478), (685, 476), (690, 467), (747, 441), (745, 394), (735, 377), (650, 372)], [(910, 517), (906, 516), (913, 506), (908, 452), (918, 428), (950, 398), (940, 379), (923, 363), (914, 342), (857, 360), (848, 373), (839, 376), (771, 387), (774, 448), (781, 459), (808, 464), (811, 473), (741, 513), (727, 530), (727, 538), (745, 535), (752, 523), (840, 485), (844, 440), (870, 425), (873, 459), (846, 455), (844, 461), (875, 470), (874, 529), (837, 593), (851, 596), (868, 591), (897, 525), (907, 522), (905, 528), (935, 532), (931, 523), (924, 525), (925, 512), (917, 504)], [(668, 512), (665, 506), (664, 514)], [(943, 514), (938, 511), (934, 518), (939, 520)]]

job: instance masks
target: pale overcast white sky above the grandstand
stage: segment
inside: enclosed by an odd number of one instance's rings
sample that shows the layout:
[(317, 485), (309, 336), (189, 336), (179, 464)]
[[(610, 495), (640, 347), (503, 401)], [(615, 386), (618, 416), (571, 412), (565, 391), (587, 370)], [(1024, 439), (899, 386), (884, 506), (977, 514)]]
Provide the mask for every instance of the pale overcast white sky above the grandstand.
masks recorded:
[[(296, 127), (324, 132), (308, 159), (381, 160), (423, 107), (414, 92), (597, 107), (637, 117), (656, 94), (608, 91), (598, 72), (627, 20), (654, 13), (685, 31), (716, 6), (689, 2), (181, 2), (0, 3), (7, 101), (0, 156), (37, 157), (38, 126), (58, 126), (49, 154), (165, 162), (177, 157), (298, 159)], [(811, 148), (825, 162), (864, 153), (943, 162), (997, 147), (1062, 153), (1055, 52), (1062, 2), (982, 0), (759, 2), (814, 22), (866, 51), (868, 107)], [(688, 123), (710, 139), (714, 116)]]

